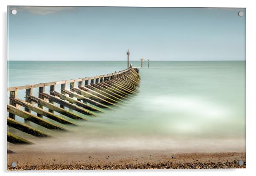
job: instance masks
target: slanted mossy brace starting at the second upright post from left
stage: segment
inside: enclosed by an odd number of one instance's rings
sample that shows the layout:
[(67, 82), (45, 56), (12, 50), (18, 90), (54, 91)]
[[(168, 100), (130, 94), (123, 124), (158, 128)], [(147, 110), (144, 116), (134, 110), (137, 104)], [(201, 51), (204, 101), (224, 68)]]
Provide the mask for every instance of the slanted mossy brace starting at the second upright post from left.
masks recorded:
[(73, 118), (73, 119), (83, 119), (83, 118), (81, 118), (79, 115), (74, 114), (74, 113), (72, 113), (72, 112), (70, 112), (70, 111), (68, 111), (68, 110), (63, 109), (63, 108), (57, 107), (56, 105), (51, 104), (51, 103), (49, 103), (49, 102), (46, 102), (46, 101), (43, 100), (43, 99), (39, 99), (39, 98), (37, 98), (37, 97), (35, 97), (35, 96), (30, 96), (29, 98), (31, 99), (31, 101), (36, 102), (37, 104), (40, 104), (40, 105), (42, 105), (42, 106), (45, 106), (45, 107), (47, 107), (48, 109), (51, 109), (51, 110), (53, 110), (53, 111), (56, 111), (57, 113), (60, 113), (60, 114), (62, 114), (62, 115), (65, 115), (65, 116), (67, 116), (67, 117), (69, 117), (69, 118)]

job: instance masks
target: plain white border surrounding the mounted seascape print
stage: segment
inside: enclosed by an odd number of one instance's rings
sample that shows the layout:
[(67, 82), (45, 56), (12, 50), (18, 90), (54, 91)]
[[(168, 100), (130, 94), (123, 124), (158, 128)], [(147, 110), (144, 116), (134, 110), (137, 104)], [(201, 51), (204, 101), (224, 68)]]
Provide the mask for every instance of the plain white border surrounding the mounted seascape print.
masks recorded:
[[(100, 174), (100, 175), (170, 175), (170, 174), (182, 174), (182, 175), (205, 175), (216, 176), (216, 175), (252, 175), (256, 173), (254, 170), (254, 164), (256, 163), (255, 156), (255, 136), (256, 134), (256, 78), (254, 75), (256, 65), (255, 65), (255, 18), (256, 17), (256, 7), (253, 5), (253, 0), (176, 0), (176, 1), (164, 1), (164, 0), (1, 0), (1, 81), (2, 86), (0, 86), (2, 93), (1, 107), (1, 171), (6, 170), (6, 6), (7, 5), (56, 5), (56, 6), (155, 6), (155, 7), (237, 7), (246, 8), (246, 169), (222, 169), (222, 170), (112, 170), (112, 171), (83, 171), (77, 172), (76, 174)], [(254, 19), (253, 19), (254, 18)], [(254, 45), (253, 45), (254, 44)], [(84, 173), (86, 172), (86, 173)], [(132, 173), (131, 173), (132, 172)], [(38, 174), (42, 175), (45, 172), (40, 173), (9, 173), (11, 175), (28, 175), (28, 174)], [(4, 173), (6, 174), (6, 173)], [(51, 172), (48, 171), (47, 174), (54, 175), (70, 175), (69, 171), (61, 172)]]

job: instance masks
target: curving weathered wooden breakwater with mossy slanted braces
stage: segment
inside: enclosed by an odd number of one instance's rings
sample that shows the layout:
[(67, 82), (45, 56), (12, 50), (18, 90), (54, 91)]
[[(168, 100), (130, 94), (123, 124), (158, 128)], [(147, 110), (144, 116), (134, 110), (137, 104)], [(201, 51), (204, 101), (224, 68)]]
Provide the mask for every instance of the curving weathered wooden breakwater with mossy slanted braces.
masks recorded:
[[(139, 91), (139, 82), (139, 70), (129, 67), (119, 72), (95, 77), (10, 87), (7, 88), (10, 92), (9, 104), (7, 104), (9, 114), (7, 125), (36, 137), (50, 137), (51, 134), (16, 121), (16, 115), (24, 118), (24, 121), (31, 121), (53, 132), (54, 130), (67, 131), (63, 125), (57, 125), (47, 119), (64, 125), (77, 125), (70, 118), (86, 121), (88, 119), (84, 116), (96, 117), (105, 108), (119, 107), (124, 99)], [(69, 90), (67, 84), (69, 84)], [(57, 85), (60, 85), (60, 91), (57, 91)], [(47, 87), (50, 88), (48, 93), (45, 91)], [(39, 88), (38, 96), (32, 94), (33, 88)], [(17, 92), (23, 90), (26, 91), (25, 99), (18, 99)], [(65, 118), (56, 113), (64, 115)], [(80, 113), (83, 116), (79, 115)], [(7, 132), (7, 141), (14, 144), (32, 144), (10, 132)]]

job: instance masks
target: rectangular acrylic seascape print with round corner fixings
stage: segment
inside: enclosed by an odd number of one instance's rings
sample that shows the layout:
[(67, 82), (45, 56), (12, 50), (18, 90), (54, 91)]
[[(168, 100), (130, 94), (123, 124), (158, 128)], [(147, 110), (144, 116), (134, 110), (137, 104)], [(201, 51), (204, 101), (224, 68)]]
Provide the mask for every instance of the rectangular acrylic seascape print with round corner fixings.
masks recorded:
[(245, 8), (7, 7), (7, 170), (245, 168)]

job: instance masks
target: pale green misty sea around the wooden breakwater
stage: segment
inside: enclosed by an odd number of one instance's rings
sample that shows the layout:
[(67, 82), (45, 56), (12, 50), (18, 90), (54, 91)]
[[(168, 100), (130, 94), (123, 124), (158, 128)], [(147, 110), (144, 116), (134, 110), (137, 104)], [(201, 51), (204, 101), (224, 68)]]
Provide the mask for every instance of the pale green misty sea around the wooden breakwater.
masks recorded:
[[(139, 61), (132, 64), (140, 67)], [(9, 149), (245, 151), (245, 61), (151, 61), (150, 68), (147, 62), (144, 65), (139, 68), (139, 93), (120, 107), (104, 109), (99, 117), (78, 113), (88, 121), (67, 118), (78, 126), (44, 117), (69, 132), (52, 132), (26, 122), (53, 136), (47, 139), (9, 127), (9, 132), (35, 143), (10, 144)], [(8, 87), (108, 74), (125, 66), (123, 61), (9, 61)], [(38, 96), (38, 88), (33, 94)], [(17, 96), (24, 99), (25, 91), (18, 91)], [(24, 122), (20, 117), (16, 120)]]

